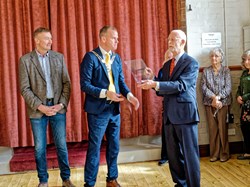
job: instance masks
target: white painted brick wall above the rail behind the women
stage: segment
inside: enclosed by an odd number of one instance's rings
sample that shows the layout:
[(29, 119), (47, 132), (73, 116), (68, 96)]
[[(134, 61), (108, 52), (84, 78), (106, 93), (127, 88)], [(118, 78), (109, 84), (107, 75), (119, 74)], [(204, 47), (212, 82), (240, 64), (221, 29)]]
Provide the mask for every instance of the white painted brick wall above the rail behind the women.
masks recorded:
[[(192, 11), (188, 11), (191, 5)], [(210, 64), (210, 48), (202, 48), (201, 35), (221, 32), (222, 48), (228, 65), (239, 65), (243, 52), (243, 27), (250, 25), (249, 0), (186, 0), (187, 51), (199, 60), (200, 66)]]

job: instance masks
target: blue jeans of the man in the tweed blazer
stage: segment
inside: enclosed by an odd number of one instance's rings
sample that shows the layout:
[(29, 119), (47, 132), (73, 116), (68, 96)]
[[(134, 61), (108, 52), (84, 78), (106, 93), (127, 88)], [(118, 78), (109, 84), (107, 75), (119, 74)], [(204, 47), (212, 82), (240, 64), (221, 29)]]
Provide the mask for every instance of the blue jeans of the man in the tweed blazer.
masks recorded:
[[(48, 103), (48, 105), (51, 105)], [(35, 143), (35, 160), (40, 182), (48, 182), (47, 172), (47, 126), (50, 123), (57, 151), (58, 165), (62, 180), (70, 178), (68, 150), (66, 144), (66, 114), (54, 116), (43, 115), (41, 118), (30, 118)]]

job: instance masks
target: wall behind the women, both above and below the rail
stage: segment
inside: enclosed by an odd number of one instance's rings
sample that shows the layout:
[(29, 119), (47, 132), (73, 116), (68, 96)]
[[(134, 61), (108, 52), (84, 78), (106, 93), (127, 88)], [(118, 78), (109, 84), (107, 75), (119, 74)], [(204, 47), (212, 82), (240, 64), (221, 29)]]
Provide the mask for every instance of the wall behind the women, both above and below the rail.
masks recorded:
[[(192, 11), (188, 10), (189, 5)], [(243, 27), (250, 25), (250, 0), (186, 0), (187, 23), (187, 52), (199, 61), (200, 67), (210, 65), (209, 51), (211, 48), (202, 48), (202, 33), (221, 32), (222, 49), (226, 55), (226, 64), (240, 65), (243, 53)], [(239, 83), (241, 71), (231, 72), (233, 81), (233, 97)], [(208, 128), (202, 95), (200, 90), (200, 77), (197, 83), (197, 97), (200, 112), (199, 144), (208, 144)], [(235, 123), (230, 129), (236, 134), (229, 136), (230, 142), (241, 141), (242, 135), (239, 127), (239, 105), (235, 99), (232, 105)]]

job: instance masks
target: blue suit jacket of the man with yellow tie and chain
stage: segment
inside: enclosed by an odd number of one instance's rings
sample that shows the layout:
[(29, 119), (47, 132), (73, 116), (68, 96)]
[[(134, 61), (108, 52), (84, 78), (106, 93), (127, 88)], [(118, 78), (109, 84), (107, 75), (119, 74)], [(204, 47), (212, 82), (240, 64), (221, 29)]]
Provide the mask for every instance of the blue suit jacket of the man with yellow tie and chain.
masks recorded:
[[(103, 59), (100, 48), (94, 51)], [(127, 87), (122, 72), (122, 61), (118, 54), (113, 53), (115, 59), (112, 63), (112, 73), (116, 93), (127, 97), (130, 92)], [(108, 89), (109, 78), (105, 64), (97, 58), (93, 52), (85, 54), (80, 67), (80, 84), (81, 90), (86, 93), (84, 109), (91, 114), (100, 114), (105, 107), (106, 98), (99, 98), (102, 89)], [(119, 111), (119, 103), (116, 103)]]

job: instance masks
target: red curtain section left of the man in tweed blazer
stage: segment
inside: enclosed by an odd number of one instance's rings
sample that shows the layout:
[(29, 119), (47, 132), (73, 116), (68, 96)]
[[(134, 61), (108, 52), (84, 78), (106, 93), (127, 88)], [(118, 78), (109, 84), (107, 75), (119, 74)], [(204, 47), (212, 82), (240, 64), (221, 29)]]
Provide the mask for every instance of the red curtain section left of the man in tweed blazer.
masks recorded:
[(32, 32), (49, 26), (47, 0), (0, 1), (0, 146), (32, 145), (18, 86), (18, 60), (33, 49)]

